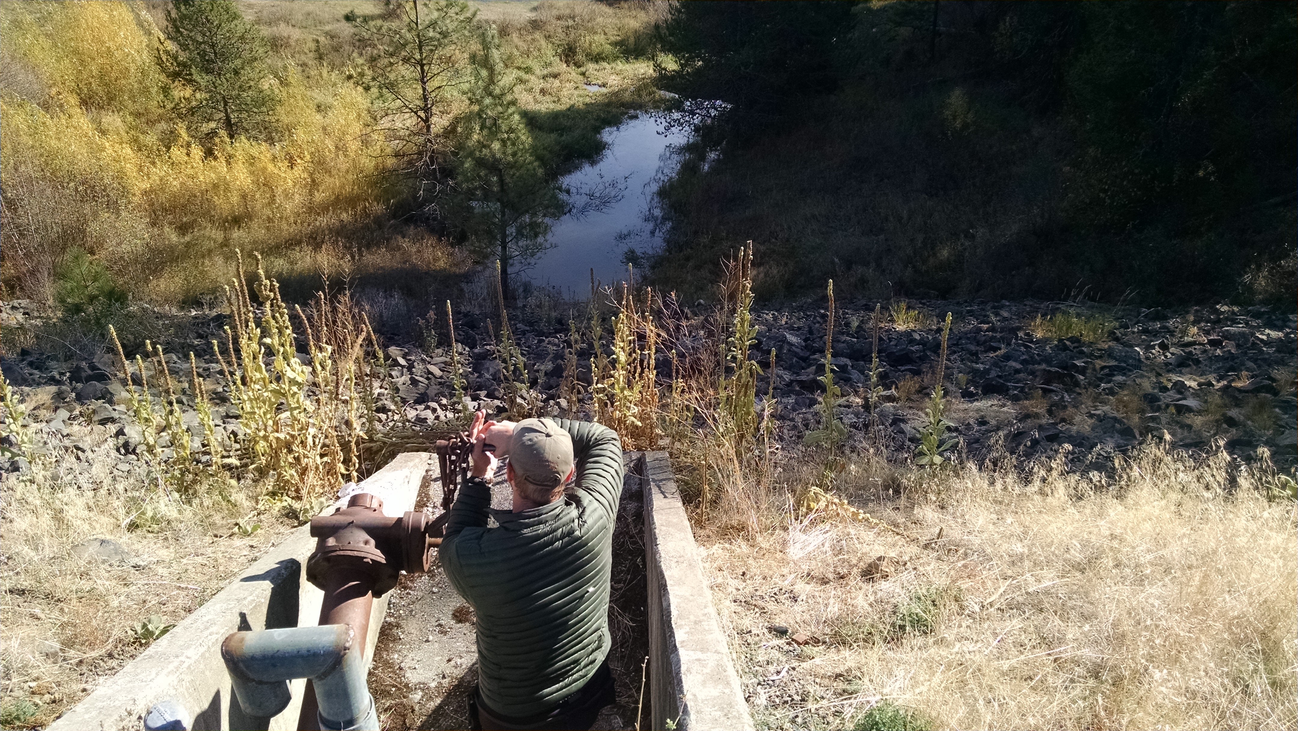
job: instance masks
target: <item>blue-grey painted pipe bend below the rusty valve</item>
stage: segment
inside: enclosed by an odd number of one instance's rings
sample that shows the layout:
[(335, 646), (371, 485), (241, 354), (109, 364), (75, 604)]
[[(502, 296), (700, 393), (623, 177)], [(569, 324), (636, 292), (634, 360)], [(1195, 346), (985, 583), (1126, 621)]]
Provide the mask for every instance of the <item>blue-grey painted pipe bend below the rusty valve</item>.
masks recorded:
[(234, 632), (221, 644), (221, 657), (248, 715), (279, 715), (292, 700), (288, 682), (310, 678), (321, 728), (379, 731), (365, 658), (354, 640), (348, 625)]

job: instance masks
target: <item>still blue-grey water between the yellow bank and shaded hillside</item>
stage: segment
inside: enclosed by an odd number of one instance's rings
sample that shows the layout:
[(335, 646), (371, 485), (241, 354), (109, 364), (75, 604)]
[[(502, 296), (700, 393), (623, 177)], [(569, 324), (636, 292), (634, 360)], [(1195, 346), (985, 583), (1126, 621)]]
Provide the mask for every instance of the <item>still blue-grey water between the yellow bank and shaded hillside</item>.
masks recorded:
[[(674, 148), (688, 131), (667, 129), (659, 114), (641, 113), (604, 131), (604, 156), (563, 178), (578, 213), (565, 216), (550, 230), (550, 248), (530, 262), (524, 275), (536, 284), (558, 287), (585, 297), (591, 269), (605, 284), (626, 278), (627, 248), (653, 251), (662, 243), (648, 221), (653, 193), (674, 171)], [(592, 193), (615, 191), (598, 210), (580, 212)]]

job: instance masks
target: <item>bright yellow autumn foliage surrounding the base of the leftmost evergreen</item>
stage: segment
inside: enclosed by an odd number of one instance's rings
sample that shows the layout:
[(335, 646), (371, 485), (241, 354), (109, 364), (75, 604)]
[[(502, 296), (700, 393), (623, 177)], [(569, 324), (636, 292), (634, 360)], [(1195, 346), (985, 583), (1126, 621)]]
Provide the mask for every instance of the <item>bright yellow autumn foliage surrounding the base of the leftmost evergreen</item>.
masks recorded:
[[(289, 65), (267, 142), (209, 147), (166, 125), (158, 31), (127, 3), (0, 4), (5, 62), (44, 93), (0, 93), (4, 284), (48, 297), (74, 248), (136, 296), (177, 300), (234, 274), (234, 249), (291, 249), (382, 208), (366, 95)], [(322, 234), (326, 232), (326, 234)]]

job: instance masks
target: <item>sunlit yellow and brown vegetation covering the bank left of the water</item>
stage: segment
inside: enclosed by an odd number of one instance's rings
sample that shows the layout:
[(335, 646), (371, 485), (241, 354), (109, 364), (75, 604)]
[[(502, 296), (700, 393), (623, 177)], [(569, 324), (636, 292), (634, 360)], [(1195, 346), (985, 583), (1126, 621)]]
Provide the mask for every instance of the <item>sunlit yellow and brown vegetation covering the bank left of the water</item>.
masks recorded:
[[(228, 282), (236, 248), (262, 252), (267, 270), (302, 295), (322, 275), (417, 290), (487, 256), (458, 247), (462, 227), (395, 171), (392, 119), (366, 83), (366, 47), (344, 14), (391, 21), (400, 5), (238, 4), (263, 49), (253, 91), (271, 104), (231, 135), (187, 114), (195, 92), (162, 53), (175, 47), (165, 35), (171, 4), (3, 4), (4, 292), (56, 300), (74, 270), (91, 266), (123, 295), (195, 303)], [(466, 10), (476, 12), (469, 35), (498, 31), (517, 108), (533, 130), (531, 155), (550, 179), (598, 155), (598, 131), (648, 99), (636, 87), (650, 73), (652, 18), (639, 6)], [(476, 39), (457, 43), (462, 78), (432, 130), (448, 149), (469, 108)], [(610, 91), (597, 96), (583, 82)], [(453, 174), (453, 155), (443, 167)]]

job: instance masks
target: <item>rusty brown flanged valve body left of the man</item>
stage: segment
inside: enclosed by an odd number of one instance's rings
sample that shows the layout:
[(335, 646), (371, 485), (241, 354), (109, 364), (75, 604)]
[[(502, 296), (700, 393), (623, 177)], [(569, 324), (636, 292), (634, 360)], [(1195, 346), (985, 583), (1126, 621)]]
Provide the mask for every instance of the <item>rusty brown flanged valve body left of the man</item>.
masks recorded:
[(428, 570), (441, 532), (443, 522), (430, 521), (423, 510), (391, 518), (383, 514), (378, 496), (353, 495), (347, 508), (312, 518), (312, 538), (317, 541), (306, 561), (306, 580), (323, 589), (331, 573), (358, 570), (373, 576), (374, 596), (383, 596), (396, 586), (401, 571)]

